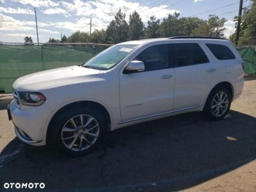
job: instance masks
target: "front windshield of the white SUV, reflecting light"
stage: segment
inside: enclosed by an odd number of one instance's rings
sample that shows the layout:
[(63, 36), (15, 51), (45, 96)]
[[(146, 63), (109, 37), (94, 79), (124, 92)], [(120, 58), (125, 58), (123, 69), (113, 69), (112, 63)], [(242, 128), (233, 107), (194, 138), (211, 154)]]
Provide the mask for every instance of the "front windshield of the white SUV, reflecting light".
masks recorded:
[(102, 53), (96, 55), (91, 60), (82, 66), (85, 68), (92, 68), (97, 70), (108, 70), (114, 65), (117, 65), (129, 53), (132, 52), (138, 45), (116, 45), (108, 48)]

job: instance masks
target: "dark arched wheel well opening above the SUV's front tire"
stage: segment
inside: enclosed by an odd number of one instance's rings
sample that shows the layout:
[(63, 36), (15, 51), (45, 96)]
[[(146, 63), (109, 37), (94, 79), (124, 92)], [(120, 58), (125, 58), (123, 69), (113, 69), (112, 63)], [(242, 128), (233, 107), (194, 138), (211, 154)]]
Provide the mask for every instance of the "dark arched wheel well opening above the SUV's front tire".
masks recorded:
[(46, 144), (48, 144), (50, 142), (50, 140), (52, 139), (50, 137), (50, 135), (53, 130), (53, 124), (55, 122), (55, 119), (58, 117), (58, 115), (65, 112), (66, 110), (72, 110), (74, 107), (93, 107), (94, 109), (99, 110), (100, 112), (102, 112), (102, 114), (106, 118), (108, 127), (110, 127), (109, 126), (111, 124), (110, 113), (107, 111), (107, 109), (103, 105), (100, 105), (100, 103), (98, 103), (98, 102), (92, 102), (92, 101), (73, 102), (68, 105), (65, 105), (64, 107), (61, 107), (57, 112), (55, 112), (53, 117), (50, 119), (50, 122), (48, 124), (48, 129), (46, 132)]

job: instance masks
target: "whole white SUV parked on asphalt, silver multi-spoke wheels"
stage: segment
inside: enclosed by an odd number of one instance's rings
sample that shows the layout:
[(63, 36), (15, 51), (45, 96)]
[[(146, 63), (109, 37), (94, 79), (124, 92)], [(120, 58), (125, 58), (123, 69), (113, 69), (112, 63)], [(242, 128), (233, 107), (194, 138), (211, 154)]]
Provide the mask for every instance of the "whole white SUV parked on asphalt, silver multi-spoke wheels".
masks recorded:
[(218, 38), (156, 38), (119, 43), (87, 63), (14, 82), (8, 108), (19, 139), (82, 155), (112, 131), (203, 111), (223, 119), (244, 85), (242, 58)]

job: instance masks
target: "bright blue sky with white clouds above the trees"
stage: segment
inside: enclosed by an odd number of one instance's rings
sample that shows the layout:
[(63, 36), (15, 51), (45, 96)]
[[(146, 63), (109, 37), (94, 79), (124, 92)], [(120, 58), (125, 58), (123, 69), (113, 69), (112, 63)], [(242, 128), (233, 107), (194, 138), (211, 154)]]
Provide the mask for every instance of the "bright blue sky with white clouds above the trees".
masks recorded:
[[(92, 32), (106, 29), (121, 9), (129, 15), (137, 11), (146, 26), (150, 16), (162, 20), (175, 11), (181, 17), (196, 16), (204, 20), (210, 14), (225, 18), (225, 37), (235, 31), (234, 16), (238, 16), (240, 0), (0, 0), (0, 42), (23, 43), (30, 36), (37, 43), (36, 16), (39, 43), (49, 38), (60, 39), (75, 31)], [(250, 0), (243, 0), (243, 7)]]

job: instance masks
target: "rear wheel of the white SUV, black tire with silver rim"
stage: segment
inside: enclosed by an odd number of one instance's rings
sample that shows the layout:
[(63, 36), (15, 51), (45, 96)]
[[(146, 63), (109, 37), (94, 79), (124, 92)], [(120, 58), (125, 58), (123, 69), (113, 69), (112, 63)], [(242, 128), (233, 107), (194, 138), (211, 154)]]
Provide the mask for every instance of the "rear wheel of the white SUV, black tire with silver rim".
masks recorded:
[(225, 87), (215, 87), (209, 94), (203, 113), (208, 119), (223, 119), (231, 105), (230, 91)]

